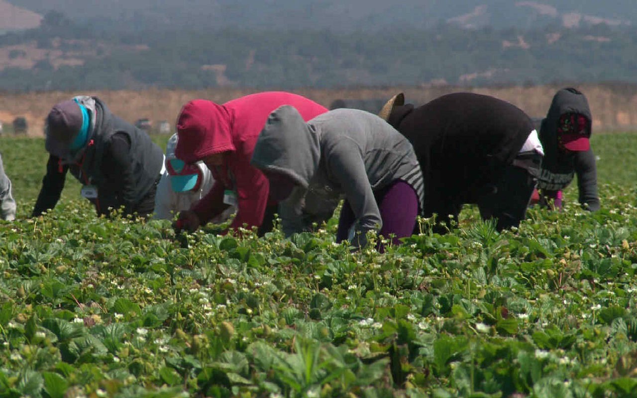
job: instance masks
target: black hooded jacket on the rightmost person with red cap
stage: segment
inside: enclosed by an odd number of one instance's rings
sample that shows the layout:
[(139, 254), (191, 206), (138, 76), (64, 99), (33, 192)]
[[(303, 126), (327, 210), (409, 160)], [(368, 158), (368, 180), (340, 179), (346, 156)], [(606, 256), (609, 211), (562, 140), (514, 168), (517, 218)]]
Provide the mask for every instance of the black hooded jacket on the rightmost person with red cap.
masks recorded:
[(587, 210), (599, 210), (597, 186), (597, 167), (592, 149), (581, 152), (570, 152), (559, 148), (557, 142), (557, 124), (564, 113), (580, 113), (588, 120), (589, 132), (592, 132), (589, 103), (576, 89), (559, 90), (553, 97), (547, 117), (537, 120), (540, 141), (544, 148), (542, 171), (538, 180), (541, 193), (550, 195), (562, 190), (573, 181), (577, 174), (579, 201), (586, 204)]

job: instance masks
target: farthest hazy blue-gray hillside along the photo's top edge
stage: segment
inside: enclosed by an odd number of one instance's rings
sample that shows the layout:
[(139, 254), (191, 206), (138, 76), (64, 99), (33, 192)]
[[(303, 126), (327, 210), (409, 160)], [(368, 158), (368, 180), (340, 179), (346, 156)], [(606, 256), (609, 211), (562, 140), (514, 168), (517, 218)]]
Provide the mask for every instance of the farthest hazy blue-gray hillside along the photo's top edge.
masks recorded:
[[(38, 13), (61, 11), (103, 29), (527, 29), (547, 25), (637, 25), (634, 0), (9, 0)], [(459, 4), (461, 3), (461, 4)], [(115, 22), (115, 23), (113, 23)]]

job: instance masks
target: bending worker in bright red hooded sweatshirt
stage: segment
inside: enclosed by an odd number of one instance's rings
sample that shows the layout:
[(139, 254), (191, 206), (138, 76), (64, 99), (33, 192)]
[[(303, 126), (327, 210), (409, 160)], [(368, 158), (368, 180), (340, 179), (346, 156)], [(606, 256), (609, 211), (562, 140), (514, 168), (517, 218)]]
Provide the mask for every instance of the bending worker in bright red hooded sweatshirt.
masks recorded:
[[(269, 114), (282, 105), (294, 106), (306, 121), (327, 111), (287, 92), (261, 92), (222, 105), (195, 99), (183, 106), (177, 118), (175, 155), (186, 163), (203, 161), (215, 184), (199, 203), (179, 214), (176, 231), (195, 231), (228, 206), (237, 208), (230, 228), (259, 227), (259, 235), (271, 230), (278, 203), (269, 199), (268, 179), (250, 166), (250, 159)], [(332, 215), (329, 208), (321, 211), (324, 217)]]

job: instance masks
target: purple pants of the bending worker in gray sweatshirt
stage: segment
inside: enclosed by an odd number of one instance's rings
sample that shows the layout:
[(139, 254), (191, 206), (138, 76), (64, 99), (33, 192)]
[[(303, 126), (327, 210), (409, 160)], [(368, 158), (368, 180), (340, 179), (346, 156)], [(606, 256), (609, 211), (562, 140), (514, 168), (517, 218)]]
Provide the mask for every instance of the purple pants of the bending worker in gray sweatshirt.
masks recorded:
[[(412, 236), (413, 227), (416, 225), (416, 217), (418, 216), (418, 195), (416, 195), (416, 191), (408, 183), (396, 180), (388, 187), (375, 191), (374, 197), (376, 198), (376, 204), (378, 204), (380, 218), (383, 220), (383, 227), (378, 234), (385, 238), (393, 234), (392, 243), (400, 245), (401, 242), (398, 239)], [(355, 221), (354, 211), (352, 211), (352, 207), (346, 199), (338, 219), (337, 242), (348, 238), (348, 232)], [(377, 248), (382, 251), (380, 244)]]

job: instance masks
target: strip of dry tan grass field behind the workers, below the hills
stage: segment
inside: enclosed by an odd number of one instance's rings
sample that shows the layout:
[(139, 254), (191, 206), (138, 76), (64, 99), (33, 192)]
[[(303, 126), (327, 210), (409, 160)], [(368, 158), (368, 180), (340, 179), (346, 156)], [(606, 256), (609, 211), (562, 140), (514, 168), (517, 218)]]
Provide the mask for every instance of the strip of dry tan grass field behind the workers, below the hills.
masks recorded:
[[(556, 90), (566, 85), (536, 87), (377, 87), (348, 89), (297, 89), (297, 94), (309, 97), (324, 106), (335, 99), (388, 98), (404, 92), (408, 101), (426, 103), (450, 92), (471, 91), (489, 94), (510, 101), (526, 111), (531, 117), (546, 115)], [(637, 86), (623, 84), (576, 85), (588, 97), (594, 117), (595, 131), (626, 131), (637, 127)], [(95, 91), (95, 92), (36, 92), (27, 94), (0, 93), (0, 122), (8, 125), (13, 118), (24, 116), (29, 122), (29, 135), (41, 136), (43, 120), (50, 107), (77, 94), (91, 94), (103, 99), (113, 113), (134, 122), (138, 118), (149, 118), (155, 124), (168, 120), (173, 124), (184, 103), (190, 99), (204, 98), (223, 103), (230, 99), (251, 94), (251, 89), (207, 89), (207, 90), (159, 90), (141, 91)]]

